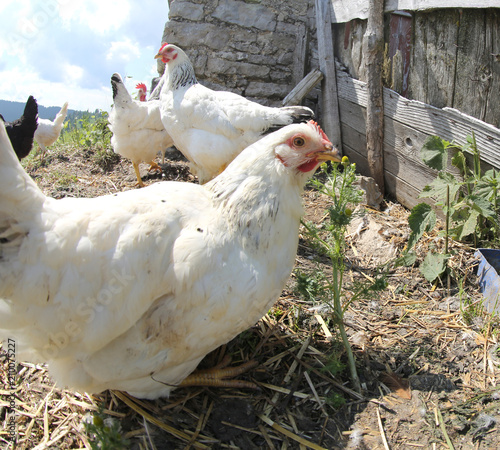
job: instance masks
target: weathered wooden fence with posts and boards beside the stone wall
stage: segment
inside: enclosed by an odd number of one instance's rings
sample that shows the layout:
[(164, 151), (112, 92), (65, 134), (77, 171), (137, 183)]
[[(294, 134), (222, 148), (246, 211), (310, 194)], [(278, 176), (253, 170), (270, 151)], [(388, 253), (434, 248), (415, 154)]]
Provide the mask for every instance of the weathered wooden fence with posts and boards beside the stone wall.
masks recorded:
[[(315, 1), (318, 53), (331, 51), (340, 62), (333, 80), (331, 71), (320, 67), (327, 134), (341, 142), (361, 173), (374, 176), (367, 148), (377, 137), (368, 130), (367, 142), (367, 110), (377, 113), (370, 105), (376, 83), (364, 80), (370, 81), (371, 70), (366, 52), (366, 40), (373, 39), (367, 33), (370, 2), (380, 0)], [(385, 2), (385, 45), (377, 63), (385, 86), (380, 167), (385, 192), (409, 208), (421, 201), (419, 193), (436, 176), (420, 159), (430, 135), (462, 144), (474, 131), (484, 167), (500, 169), (499, 8), (494, 0)], [(331, 28), (320, 26), (325, 14)]]

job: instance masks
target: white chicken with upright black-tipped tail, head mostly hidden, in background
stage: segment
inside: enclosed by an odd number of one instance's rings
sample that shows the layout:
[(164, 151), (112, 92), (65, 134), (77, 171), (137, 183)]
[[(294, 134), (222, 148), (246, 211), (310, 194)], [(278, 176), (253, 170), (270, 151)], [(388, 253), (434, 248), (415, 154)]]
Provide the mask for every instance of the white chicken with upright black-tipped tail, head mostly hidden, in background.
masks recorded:
[[(144, 186), (139, 163), (147, 162), (150, 170), (160, 170), (153, 160), (158, 153), (173, 145), (160, 117), (159, 100), (137, 101), (132, 98), (119, 74), (111, 77), (113, 108), (109, 114), (109, 128), (113, 133), (111, 145), (116, 153), (132, 161), (137, 183)], [(145, 95), (145, 94), (144, 94)]]

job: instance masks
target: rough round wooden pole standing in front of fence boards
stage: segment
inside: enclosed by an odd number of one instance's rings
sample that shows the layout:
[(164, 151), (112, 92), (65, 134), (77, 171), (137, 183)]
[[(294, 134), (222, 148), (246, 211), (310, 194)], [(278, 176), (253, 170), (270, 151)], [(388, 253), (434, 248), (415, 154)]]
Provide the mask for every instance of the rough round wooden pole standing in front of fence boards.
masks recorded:
[(366, 58), (368, 105), (366, 109), (366, 156), (370, 176), (384, 193), (384, 1), (370, 0), (368, 24), (363, 37)]

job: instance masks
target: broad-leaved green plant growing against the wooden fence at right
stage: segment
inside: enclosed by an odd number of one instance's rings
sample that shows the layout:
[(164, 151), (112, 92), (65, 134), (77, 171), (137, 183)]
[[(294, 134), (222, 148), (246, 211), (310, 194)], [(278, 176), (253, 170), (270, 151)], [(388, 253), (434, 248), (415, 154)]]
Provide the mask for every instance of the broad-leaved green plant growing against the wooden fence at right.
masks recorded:
[[(449, 152), (453, 151), (451, 164), (460, 172), (460, 177), (447, 171)], [(472, 155), (472, 169), (466, 154)], [(498, 204), (500, 174), (492, 169), (481, 173), (480, 153), (474, 133), (460, 146), (438, 136), (427, 138), (421, 150), (422, 160), (438, 171), (437, 177), (425, 186), (420, 198), (434, 198), (436, 206), (445, 216), (445, 248), (442, 253), (429, 252), (421, 266), (422, 274), (429, 282), (440, 277), (450, 258), (449, 238), (458, 241), (478, 242), (497, 240), (500, 231)], [(436, 212), (426, 203), (416, 205), (410, 214), (411, 234), (408, 241), (410, 251), (424, 233), (436, 226)]]

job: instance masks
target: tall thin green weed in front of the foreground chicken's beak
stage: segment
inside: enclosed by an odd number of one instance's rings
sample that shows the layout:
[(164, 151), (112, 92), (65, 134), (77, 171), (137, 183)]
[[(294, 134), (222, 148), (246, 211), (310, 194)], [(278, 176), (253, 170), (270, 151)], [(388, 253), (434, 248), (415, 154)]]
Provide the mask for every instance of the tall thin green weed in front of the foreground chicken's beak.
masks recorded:
[[(342, 168), (343, 170), (340, 170)], [(356, 165), (350, 164), (349, 160), (344, 157), (340, 167), (334, 164), (332, 170), (328, 173), (322, 167), (322, 173), (311, 180), (311, 184), (319, 192), (330, 197), (332, 205), (328, 208), (328, 222), (322, 224), (321, 227), (316, 226), (312, 222), (303, 223), (309, 237), (315, 245), (322, 249), (322, 253), (330, 259), (332, 265), (331, 279), (315, 274), (305, 278), (299, 276), (298, 286), (301, 290), (310, 297), (315, 297), (316, 300), (326, 302), (332, 310), (332, 321), (337, 326), (344, 348), (347, 353), (351, 380), (355, 389), (360, 392), (361, 385), (356, 371), (356, 362), (352, 352), (347, 333), (344, 327), (344, 313), (349, 307), (349, 304), (365, 295), (370, 290), (369, 287), (363, 286), (356, 288), (349, 299), (343, 294), (343, 278), (346, 269), (344, 261), (344, 251), (346, 247), (345, 232), (347, 226), (352, 220), (352, 208), (361, 200), (361, 192), (353, 183), (356, 179)], [(326, 177), (326, 182), (320, 181), (320, 178)], [(319, 283), (321, 281), (321, 283)], [(319, 298), (318, 298), (319, 297)]]

